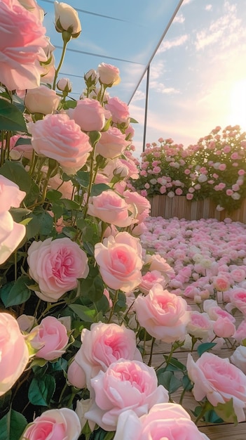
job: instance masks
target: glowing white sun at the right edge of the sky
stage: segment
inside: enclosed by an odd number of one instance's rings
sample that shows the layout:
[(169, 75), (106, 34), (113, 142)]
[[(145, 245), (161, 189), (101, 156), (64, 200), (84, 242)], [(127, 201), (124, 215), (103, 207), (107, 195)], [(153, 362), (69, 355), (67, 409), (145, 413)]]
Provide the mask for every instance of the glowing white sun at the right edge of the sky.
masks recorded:
[(246, 78), (235, 82), (231, 90), (231, 124), (246, 131)]

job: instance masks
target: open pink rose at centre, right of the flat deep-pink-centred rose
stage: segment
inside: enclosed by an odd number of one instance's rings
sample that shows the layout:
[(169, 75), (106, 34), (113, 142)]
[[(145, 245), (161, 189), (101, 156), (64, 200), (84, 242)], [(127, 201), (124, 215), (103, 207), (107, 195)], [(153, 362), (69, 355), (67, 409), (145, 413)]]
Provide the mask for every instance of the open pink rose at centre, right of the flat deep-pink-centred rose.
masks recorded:
[(130, 292), (142, 280), (142, 246), (139, 239), (120, 232), (95, 245), (95, 260), (104, 283), (111, 289)]

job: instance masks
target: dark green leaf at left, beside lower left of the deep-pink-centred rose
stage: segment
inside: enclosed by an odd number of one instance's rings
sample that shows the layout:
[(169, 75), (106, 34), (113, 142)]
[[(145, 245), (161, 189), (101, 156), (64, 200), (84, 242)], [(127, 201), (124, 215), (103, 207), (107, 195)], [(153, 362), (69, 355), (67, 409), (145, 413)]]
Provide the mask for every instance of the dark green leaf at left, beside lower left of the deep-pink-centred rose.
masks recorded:
[(13, 286), (11, 287), (10, 292), (8, 292), (8, 297), (4, 302), (6, 307), (17, 306), (18, 304), (23, 304), (27, 299), (31, 296), (31, 292), (27, 287), (29, 284), (33, 283), (30, 278), (26, 275), (20, 276)]

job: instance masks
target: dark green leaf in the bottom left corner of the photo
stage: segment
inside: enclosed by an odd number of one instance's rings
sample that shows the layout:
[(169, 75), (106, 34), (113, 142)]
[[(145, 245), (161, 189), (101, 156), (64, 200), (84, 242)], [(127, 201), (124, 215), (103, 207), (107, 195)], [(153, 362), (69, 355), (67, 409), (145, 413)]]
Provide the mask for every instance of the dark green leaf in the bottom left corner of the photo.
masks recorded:
[(0, 440), (19, 440), (26, 426), (27, 420), (24, 415), (9, 410), (0, 420)]

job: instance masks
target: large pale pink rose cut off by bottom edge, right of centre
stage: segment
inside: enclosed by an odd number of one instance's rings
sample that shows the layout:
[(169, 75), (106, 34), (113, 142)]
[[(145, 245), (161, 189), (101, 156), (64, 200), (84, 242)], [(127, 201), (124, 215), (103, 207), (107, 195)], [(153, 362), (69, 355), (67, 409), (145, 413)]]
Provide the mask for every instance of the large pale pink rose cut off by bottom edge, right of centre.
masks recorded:
[(138, 418), (132, 410), (118, 417), (114, 440), (209, 440), (177, 403), (156, 403)]

